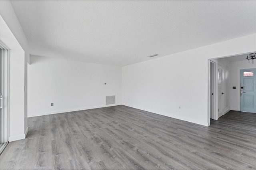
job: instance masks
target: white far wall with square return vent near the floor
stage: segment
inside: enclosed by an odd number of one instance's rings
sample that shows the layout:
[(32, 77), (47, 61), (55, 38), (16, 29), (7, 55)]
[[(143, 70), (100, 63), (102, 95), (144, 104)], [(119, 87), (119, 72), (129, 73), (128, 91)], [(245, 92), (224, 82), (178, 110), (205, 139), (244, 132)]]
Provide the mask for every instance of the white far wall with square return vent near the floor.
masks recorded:
[(28, 117), (106, 107), (108, 95), (121, 105), (121, 93), (121, 67), (30, 56)]

